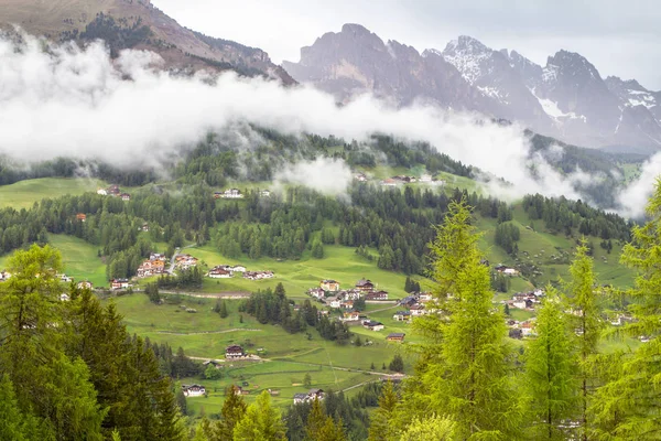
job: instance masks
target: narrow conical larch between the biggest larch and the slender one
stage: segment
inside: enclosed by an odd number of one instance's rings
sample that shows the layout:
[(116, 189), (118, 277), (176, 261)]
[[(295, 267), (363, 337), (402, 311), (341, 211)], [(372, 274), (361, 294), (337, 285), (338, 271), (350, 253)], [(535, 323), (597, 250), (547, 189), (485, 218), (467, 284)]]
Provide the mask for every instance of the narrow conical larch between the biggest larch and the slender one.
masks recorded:
[(527, 386), (535, 439), (566, 439), (561, 422), (574, 416), (577, 381), (576, 358), (562, 303), (552, 287), (539, 310), (538, 337), (530, 342), (525, 357)]

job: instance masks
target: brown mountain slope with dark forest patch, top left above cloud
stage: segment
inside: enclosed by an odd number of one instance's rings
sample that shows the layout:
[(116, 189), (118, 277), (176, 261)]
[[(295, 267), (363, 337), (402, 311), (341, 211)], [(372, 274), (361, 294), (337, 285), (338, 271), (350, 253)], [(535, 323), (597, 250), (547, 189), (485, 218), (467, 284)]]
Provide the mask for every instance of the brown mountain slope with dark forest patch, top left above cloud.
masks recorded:
[(171, 69), (232, 69), (294, 83), (266, 52), (185, 29), (149, 0), (0, 0), (0, 11), (3, 28), (19, 25), (53, 41), (102, 39), (113, 55), (122, 49), (149, 50)]

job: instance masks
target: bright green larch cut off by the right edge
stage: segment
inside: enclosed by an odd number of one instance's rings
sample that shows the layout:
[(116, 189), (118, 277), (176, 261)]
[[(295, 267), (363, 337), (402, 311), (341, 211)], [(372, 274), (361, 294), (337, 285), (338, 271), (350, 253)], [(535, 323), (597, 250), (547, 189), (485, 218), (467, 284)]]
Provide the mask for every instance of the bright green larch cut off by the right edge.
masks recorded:
[(661, 180), (655, 182), (647, 215), (650, 220), (633, 227), (621, 256), (622, 263), (638, 271), (633, 289), (622, 292), (633, 319), (622, 332), (647, 342), (606, 361), (615, 375), (597, 389), (590, 406), (599, 439), (661, 438)]

